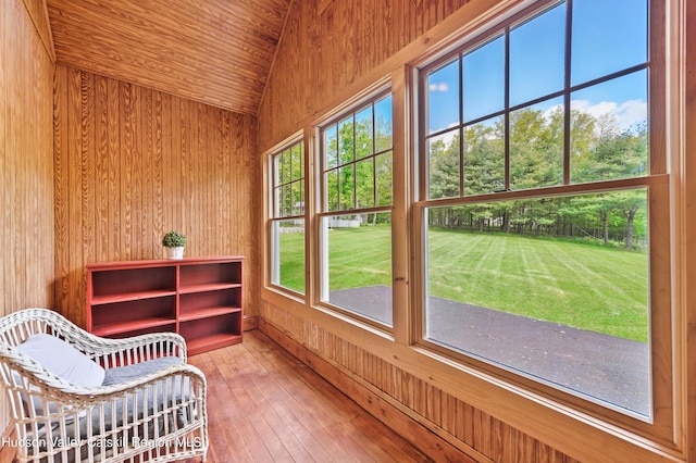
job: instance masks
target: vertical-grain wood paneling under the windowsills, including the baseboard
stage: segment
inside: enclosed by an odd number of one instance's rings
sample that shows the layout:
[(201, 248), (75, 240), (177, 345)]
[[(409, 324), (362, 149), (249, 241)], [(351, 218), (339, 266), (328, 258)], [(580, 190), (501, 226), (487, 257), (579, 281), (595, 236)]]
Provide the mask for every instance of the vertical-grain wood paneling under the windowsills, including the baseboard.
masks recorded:
[(575, 462), (282, 308), (264, 303), (261, 316), (262, 331), (435, 461)]

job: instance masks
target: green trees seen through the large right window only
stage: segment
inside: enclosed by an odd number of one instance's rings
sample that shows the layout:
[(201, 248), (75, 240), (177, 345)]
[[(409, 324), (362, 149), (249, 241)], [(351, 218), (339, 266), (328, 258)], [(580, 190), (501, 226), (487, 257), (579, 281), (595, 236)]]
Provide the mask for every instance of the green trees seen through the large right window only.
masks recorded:
[[(566, 129), (562, 108), (524, 109), (457, 128), (428, 143), (431, 199), (562, 185)], [(610, 115), (571, 111), (572, 184), (647, 174), (647, 127), (621, 129)], [(507, 138), (507, 147), (506, 147)], [(508, 150), (506, 166), (505, 153)], [(642, 248), (647, 233), (647, 192), (630, 189), (572, 197), (495, 201), (433, 208), (432, 226), (474, 232), (620, 242)]]

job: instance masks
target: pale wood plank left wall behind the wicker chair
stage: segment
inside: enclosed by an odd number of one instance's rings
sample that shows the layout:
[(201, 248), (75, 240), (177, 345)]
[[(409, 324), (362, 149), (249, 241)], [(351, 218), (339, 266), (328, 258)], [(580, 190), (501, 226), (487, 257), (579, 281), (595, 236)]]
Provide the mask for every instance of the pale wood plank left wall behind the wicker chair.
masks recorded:
[[(54, 65), (27, 7), (0, 8), (0, 315), (53, 306)], [(7, 406), (2, 395), (0, 429)]]

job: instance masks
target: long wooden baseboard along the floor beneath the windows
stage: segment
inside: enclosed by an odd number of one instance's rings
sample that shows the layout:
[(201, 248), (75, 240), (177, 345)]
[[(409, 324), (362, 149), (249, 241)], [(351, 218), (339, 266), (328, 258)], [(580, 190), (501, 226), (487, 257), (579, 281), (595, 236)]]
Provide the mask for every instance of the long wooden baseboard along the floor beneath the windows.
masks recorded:
[(360, 381), (350, 372), (321, 358), (265, 318), (259, 317), (258, 326), (263, 334), (434, 461), (493, 463), (484, 454), (384, 396), (370, 384)]

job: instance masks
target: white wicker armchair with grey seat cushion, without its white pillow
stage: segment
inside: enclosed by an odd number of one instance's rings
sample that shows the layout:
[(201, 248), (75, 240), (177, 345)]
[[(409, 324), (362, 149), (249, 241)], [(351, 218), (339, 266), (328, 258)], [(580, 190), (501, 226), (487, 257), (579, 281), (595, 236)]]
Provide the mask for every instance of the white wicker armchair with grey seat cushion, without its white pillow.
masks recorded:
[[(78, 386), (17, 350), (36, 334), (62, 339), (107, 373), (146, 373), (109, 386)], [(0, 375), (20, 462), (206, 461), (206, 378), (186, 364), (179, 335), (104, 339), (57, 312), (21, 310), (0, 318)]]

